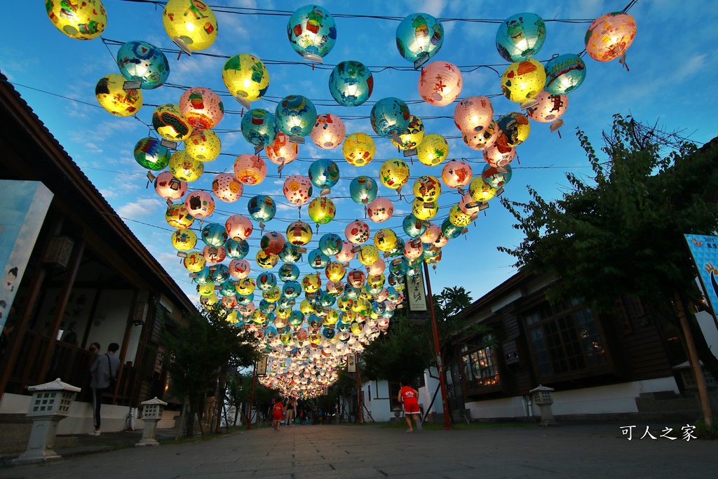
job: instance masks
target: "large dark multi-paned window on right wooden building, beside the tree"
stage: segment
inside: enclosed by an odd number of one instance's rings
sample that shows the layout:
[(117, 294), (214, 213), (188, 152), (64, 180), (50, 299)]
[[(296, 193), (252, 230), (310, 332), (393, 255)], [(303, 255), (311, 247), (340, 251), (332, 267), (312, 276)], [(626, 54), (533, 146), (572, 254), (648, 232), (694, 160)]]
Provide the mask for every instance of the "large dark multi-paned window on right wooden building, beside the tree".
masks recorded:
[(571, 300), (524, 315), (538, 376), (604, 369), (605, 348), (592, 313)]

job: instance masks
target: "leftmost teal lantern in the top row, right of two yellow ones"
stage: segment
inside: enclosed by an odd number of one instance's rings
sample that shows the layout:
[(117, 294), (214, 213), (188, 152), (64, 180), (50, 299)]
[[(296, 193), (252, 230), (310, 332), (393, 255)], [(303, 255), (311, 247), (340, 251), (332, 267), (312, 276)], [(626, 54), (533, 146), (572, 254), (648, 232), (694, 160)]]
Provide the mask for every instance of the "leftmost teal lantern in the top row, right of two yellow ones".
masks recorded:
[(294, 51), (304, 60), (322, 63), (322, 58), (337, 41), (337, 24), (326, 9), (319, 5), (306, 5), (289, 17), (286, 35)]

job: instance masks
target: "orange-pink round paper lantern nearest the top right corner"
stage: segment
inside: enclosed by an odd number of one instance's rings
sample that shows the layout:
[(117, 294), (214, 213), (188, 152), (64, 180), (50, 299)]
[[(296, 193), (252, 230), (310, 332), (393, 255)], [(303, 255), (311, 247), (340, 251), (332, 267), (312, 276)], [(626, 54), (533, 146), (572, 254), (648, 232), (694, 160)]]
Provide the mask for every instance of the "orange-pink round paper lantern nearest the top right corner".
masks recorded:
[(635, 30), (635, 19), (623, 11), (602, 15), (586, 30), (586, 52), (599, 62), (623, 57), (633, 43)]

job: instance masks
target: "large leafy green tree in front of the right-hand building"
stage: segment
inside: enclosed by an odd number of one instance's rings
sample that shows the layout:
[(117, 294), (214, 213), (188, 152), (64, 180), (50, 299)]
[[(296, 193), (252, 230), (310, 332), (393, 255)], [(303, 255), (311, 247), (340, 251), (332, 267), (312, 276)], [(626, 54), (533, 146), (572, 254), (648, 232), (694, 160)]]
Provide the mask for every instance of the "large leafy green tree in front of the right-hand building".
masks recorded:
[[(498, 249), (515, 256), (523, 271), (560, 278), (547, 292), (551, 302), (582, 298), (611, 313), (615, 299), (633, 294), (677, 315), (690, 341), (689, 303), (697, 304), (699, 292), (684, 233), (718, 229), (718, 203), (710, 200), (718, 192), (716, 145), (696, 150), (675, 141), (676, 134), (617, 115), (604, 134), (602, 162), (584, 132), (577, 136), (593, 176), (567, 174), (571, 187), (560, 200), (544, 200), (531, 187), (528, 203), (503, 199), (525, 238)], [(706, 352), (704, 362), (714, 368)]]

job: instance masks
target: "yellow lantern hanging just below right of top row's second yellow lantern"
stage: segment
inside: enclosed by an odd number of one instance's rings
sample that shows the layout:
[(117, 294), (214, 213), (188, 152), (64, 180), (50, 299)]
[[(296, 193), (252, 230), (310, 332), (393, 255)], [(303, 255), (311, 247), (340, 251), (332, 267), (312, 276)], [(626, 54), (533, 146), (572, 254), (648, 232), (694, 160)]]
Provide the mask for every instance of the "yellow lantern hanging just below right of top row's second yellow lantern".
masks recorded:
[(254, 55), (241, 53), (225, 62), (222, 80), (233, 97), (246, 102), (257, 101), (269, 88), (269, 71)]

